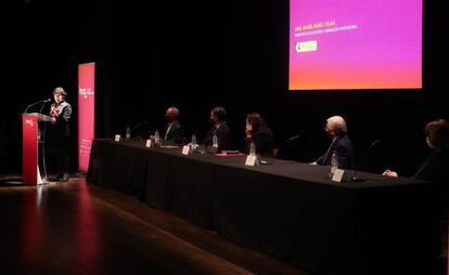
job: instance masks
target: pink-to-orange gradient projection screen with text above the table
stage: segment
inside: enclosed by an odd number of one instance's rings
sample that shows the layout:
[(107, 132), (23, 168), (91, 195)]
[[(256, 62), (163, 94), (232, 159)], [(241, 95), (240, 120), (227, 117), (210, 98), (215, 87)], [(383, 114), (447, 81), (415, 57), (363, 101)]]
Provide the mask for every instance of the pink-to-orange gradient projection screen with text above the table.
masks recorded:
[(290, 90), (422, 88), (422, 0), (291, 0)]

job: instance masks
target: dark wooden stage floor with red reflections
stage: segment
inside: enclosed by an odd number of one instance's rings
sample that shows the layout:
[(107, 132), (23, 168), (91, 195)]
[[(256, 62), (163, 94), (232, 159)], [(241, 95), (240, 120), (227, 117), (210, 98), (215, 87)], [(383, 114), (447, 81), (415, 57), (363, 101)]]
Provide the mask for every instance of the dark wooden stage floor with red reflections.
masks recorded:
[(300, 274), (136, 198), (0, 176), (0, 274)]

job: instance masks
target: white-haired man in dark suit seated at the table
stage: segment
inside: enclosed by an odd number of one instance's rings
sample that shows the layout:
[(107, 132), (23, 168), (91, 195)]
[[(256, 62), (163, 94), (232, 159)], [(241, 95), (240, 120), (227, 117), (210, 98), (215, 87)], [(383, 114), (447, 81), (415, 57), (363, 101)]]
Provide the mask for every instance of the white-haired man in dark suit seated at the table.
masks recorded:
[(352, 143), (347, 135), (346, 121), (341, 116), (328, 118), (325, 132), (331, 138), (332, 143), (328, 150), (319, 157), (312, 165), (329, 166), (331, 165), (332, 153), (335, 152), (338, 158), (338, 168), (351, 169), (354, 161)]

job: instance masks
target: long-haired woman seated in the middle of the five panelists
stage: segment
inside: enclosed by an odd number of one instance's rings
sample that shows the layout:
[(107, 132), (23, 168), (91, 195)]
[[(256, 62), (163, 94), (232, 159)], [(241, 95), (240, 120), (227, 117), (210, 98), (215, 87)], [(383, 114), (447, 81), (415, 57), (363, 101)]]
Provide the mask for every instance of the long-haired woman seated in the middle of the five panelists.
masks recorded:
[(262, 157), (273, 156), (274, 138), (265, 120), (257, 113), (246, 116), (246, 153), (249, 153), (249, 145), (256, 145), (256, 154)]

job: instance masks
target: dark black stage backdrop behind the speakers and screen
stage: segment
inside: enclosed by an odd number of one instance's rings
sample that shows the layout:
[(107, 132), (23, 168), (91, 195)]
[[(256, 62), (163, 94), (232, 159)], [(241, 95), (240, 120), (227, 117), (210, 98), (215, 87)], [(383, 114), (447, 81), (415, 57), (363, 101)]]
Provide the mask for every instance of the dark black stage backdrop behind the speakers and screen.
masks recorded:
[(277, 144), (299, 134), (282, 157), (311, 161), (329, 145), (325, 118), (342, 115), (359, 159), (373, 140), (382, 141), (362, 170), (410, 175), (426, 153), (423, 127), (448, 117), (442, 3), (424, 4), (422, 90), (288, 92), (286, 0), (2, 2), (1, 171), (21, 171), (26, 105), (62, 86), (76, 110), (77, 65), (95, 62), (98, 136), (125, 134), (127, 125), (147, 120), (133, 133), (146, 135), (176, 105), (188, 135), (202, 138), (210, 108), (221, 105), (238, 147), (245, 114), (258, 112)]

